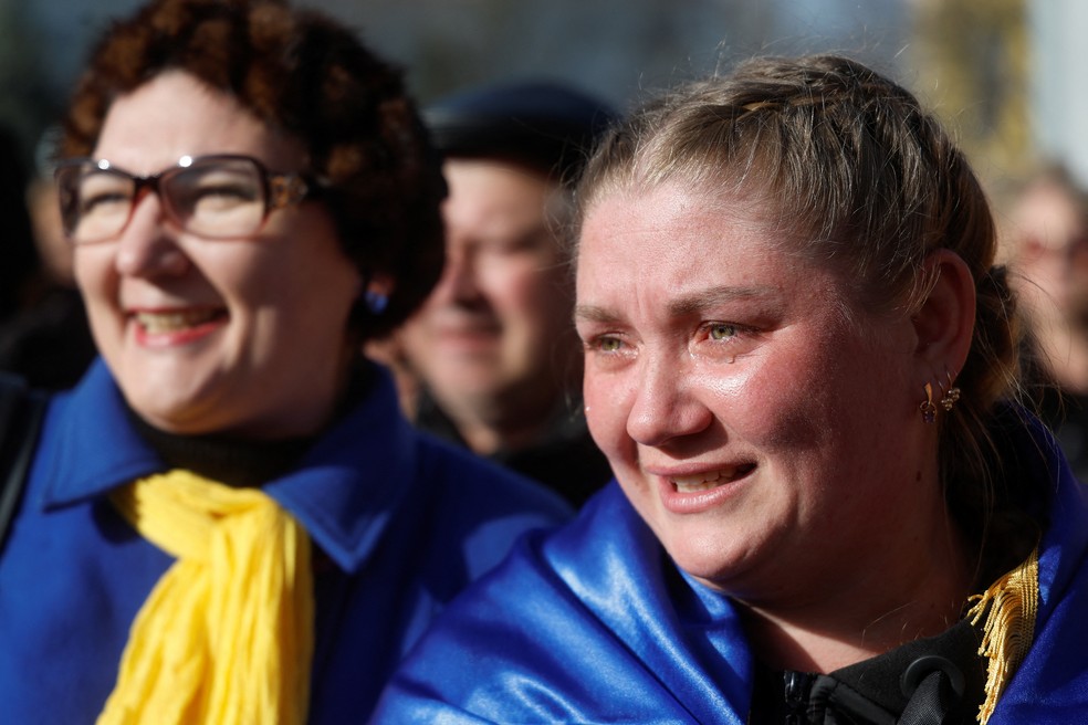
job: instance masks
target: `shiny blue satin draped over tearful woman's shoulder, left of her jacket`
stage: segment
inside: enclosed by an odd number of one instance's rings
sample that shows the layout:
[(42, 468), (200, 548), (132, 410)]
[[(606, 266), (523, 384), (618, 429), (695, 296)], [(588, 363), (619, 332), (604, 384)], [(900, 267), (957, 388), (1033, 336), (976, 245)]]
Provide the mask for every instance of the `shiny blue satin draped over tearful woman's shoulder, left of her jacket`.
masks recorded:
[(375, 722), (663, 723), (704, 708), (734, 722), (722, 710), (728, 682), (700, 673), (688, 649), (661, 557), (618, 486), (606, 486), (575, 522), (526, 536), (453, 601)]

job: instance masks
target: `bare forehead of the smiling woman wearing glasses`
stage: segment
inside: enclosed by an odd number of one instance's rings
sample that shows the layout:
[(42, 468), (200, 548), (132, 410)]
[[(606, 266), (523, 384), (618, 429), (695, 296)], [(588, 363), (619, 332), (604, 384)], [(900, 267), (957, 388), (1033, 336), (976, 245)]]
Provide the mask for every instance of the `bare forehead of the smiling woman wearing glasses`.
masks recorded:
[(241, 154), (294, 170), (302, 145), (271, 129), (232, 96), (188, 73), (161, 73), (109, 106), (93, 156), (154, 174), (182, 156)]

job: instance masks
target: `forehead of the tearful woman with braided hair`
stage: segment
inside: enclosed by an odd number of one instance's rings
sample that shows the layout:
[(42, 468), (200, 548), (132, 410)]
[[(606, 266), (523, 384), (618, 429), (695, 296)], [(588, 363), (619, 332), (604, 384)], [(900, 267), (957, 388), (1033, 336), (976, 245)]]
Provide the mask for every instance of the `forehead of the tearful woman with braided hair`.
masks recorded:
[(582, 227), (579, 308), (677, 316), (774, 296), (840, 307), (849, 285), (793, 234), (751, 199), (678, 185), (609, 193)]

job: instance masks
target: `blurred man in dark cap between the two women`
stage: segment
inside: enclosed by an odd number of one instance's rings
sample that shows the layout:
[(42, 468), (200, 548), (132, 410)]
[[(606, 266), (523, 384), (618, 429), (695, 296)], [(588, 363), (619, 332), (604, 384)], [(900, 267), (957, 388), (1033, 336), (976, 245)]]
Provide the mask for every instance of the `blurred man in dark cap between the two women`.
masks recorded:
[(425, 111), (450, 188), (446, 267), (399, 334), (418, 427), (576, 505), (611, 474), (580, 402), (571, 183), (615, 117), (545, 82), (472, 88)]

